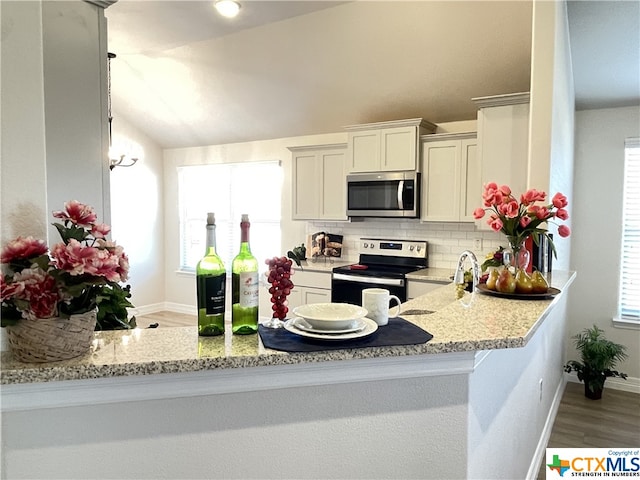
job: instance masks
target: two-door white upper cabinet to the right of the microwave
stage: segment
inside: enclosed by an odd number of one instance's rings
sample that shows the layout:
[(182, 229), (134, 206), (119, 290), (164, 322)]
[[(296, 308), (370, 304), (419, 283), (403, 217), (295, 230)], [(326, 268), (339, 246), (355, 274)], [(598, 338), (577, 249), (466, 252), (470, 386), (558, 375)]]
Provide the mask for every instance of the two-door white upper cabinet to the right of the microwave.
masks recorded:
[(420, 218), (473, 222), (482, 186), (475, 132), (426, 135), (423, 141)]

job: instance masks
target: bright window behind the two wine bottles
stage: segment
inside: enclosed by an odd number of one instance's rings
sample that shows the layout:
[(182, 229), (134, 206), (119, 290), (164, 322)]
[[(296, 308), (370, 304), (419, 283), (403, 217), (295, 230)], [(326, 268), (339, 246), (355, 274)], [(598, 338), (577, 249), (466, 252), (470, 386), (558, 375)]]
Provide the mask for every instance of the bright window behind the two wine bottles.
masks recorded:
[(280, 255), (282, 167), (279, 161), (178, 167), (180, 270), (195, 272), (205, 252), (207, 212), (216, 216), (216, 251), (231, 273), (240, 249), (240, 218), (249, 214), (251, 253)]

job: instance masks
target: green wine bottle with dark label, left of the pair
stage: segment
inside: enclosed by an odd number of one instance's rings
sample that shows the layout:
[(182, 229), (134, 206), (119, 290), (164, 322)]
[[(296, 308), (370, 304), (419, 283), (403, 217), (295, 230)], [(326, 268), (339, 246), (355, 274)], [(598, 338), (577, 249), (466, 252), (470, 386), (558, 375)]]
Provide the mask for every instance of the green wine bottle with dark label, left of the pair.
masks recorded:
[(198, 335), (224, 334), (225, 288), (227, 272), (216, 253), (216, 218), (207, 214), (207, 247), (196, 266)]

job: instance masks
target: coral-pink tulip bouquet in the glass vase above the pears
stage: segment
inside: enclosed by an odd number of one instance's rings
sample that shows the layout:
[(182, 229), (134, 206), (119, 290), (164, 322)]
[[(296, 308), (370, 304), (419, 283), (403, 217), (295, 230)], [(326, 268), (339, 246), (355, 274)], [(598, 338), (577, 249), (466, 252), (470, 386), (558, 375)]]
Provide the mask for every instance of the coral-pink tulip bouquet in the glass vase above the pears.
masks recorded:
[[(547, 230), (540, 225), (552, 220), (567, 220), (569, 213), (566, 210), (567, 197), (562, 193), (556, 193), (551, 203), (544, 203), (547, 194), (536, 189), (527, 190), (520, 196), (520, 201), (511, 192), (507, 185), (498, 186), (495, 182), (485, 185), (482, 199), (486, 208), (476, 208), (473, 217), (480, 219), (490, 212), (487, 224), (492, 230), (502, 232), (510, 241), (522, 243), (528, 236), (532, 236), (536, 244), (540, 242), (540, 236), (549, 239), (555, 255), (555, 246), (549, 237)], [(543, 202), (539, 204), (538, 202)], [(558, 235), (568, 237), (571, 230), (566, 225), (558, 226)]]

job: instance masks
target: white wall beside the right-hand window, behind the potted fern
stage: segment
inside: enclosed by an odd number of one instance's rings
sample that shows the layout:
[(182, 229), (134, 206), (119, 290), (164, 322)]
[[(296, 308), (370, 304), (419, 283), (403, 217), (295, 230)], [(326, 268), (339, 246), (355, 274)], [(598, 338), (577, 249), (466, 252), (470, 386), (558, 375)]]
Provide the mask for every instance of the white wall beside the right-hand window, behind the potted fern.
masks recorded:
[[(569, 303), (568, 334), (593, 324), (627, 346), (618, 369), (640, 378), (640, 330), (615, 328), (622, 238), (624, 140), (640, 134), (638, 107), (576, 113), (572, 267), (578, 272)], [(579, 207), (579, 208), (578, 208)], [(572, 342), (567, 358), (577, 359)]]

